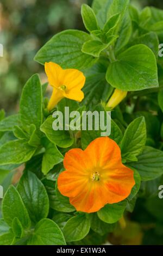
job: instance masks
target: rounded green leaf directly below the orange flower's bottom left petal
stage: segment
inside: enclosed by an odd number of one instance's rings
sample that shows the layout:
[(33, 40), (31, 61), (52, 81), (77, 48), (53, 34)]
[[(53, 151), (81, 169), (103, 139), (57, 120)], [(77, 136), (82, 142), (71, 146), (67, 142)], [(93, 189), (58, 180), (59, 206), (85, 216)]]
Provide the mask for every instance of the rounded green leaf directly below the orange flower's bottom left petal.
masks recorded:
[(70, 218), (63, 228), (65, 240), (67, 242), (82, 240), (90, 230), (90, 220), (85, 214), (79, 214)]

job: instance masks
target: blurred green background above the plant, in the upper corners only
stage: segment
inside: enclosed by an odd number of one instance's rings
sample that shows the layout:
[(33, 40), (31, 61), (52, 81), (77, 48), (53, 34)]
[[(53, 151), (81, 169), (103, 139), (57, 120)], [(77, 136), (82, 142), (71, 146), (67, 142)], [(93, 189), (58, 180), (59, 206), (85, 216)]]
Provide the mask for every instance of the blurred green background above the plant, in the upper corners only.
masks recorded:
[[(18, 99), (28, 78), (39, 73), (46, 79), (43, 66), (33, 58), (52, 35), (68, 28), (84, 29), (80, 16), (82, 3), (92, 0), (1, 0), (0, 43), (0, 109), (17, 111)], [(163, 8), (160, 0), (133, 0), (141, 7), (154, 5)]]

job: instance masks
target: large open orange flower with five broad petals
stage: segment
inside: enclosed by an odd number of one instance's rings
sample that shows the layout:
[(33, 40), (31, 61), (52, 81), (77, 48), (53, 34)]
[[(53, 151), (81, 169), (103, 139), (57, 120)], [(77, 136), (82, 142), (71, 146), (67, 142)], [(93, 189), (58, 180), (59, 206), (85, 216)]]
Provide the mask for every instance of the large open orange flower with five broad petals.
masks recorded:
[(96, 212), (105, 204), (121, 202), (135, 185), (134, 172), (121, 161), (121, 150), (108, 137), (97, 138), (83, 151), (69, 150), (58, 189), (83, 212)]

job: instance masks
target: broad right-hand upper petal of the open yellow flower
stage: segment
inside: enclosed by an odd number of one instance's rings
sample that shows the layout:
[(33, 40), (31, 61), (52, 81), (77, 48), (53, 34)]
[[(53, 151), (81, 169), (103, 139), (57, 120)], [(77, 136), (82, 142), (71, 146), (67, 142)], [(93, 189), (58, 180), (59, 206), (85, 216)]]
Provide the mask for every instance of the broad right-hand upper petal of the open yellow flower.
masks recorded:
[(85, 76), (77, 69), (62, 70), (62, 84), (65, 85), (68, 90), (73, 88), (82, 89), (85, 84)]

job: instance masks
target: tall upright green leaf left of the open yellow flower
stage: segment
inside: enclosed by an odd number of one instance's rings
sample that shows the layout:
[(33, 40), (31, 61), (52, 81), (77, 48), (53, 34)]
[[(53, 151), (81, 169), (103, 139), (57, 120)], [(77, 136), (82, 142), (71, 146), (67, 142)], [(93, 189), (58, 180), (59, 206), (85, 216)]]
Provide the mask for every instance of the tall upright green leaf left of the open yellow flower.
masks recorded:
[(36, 129), (40, 129), (42, 123), (42, 88), (38, 75), (33, 75), (25, 84), (21, 101), (20, 114), (23, 126), (34, 124)]

